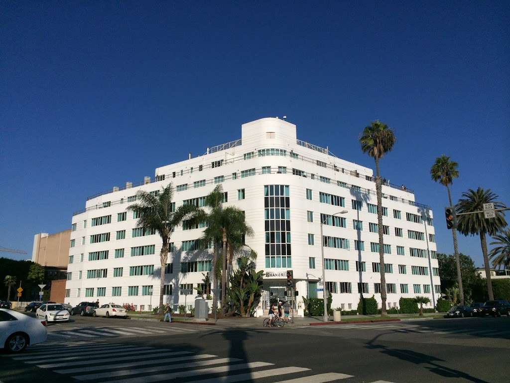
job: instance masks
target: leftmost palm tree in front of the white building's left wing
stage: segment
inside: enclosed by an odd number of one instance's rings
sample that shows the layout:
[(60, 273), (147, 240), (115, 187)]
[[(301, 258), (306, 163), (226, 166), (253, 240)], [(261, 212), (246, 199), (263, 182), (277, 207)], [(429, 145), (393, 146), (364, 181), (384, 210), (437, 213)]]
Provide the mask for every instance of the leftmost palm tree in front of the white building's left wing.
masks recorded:
[(172, 184), (169, 183), (159, 194), (150, 194), (139, 190), (136, 196), (139, 203), (127, 207), (127, 210), (134, 211), (138, 217), (138, 226), (144, 230), (154, 230), (161, 236), (163, 245), (160, 251), (160, 302), (159, 314), (163, 314), (163, 293), (165, 291), (165, 267), (168, 260), (169, 238), (173, 228), (181, 224), (183, 220), (198, 220), (203, 216), (202, 209), (194, 205), (182, 205), (175, 209), (172, 202)]

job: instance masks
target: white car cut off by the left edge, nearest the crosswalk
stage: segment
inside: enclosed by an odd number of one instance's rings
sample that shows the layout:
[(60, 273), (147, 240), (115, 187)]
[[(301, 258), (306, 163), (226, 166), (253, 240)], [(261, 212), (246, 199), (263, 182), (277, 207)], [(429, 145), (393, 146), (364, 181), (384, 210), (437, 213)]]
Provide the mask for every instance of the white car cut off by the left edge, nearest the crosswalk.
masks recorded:
[(47, 338), (44, 321), (0, 308), (0, 348), (20, 352), (28, 345), (45, 342)]

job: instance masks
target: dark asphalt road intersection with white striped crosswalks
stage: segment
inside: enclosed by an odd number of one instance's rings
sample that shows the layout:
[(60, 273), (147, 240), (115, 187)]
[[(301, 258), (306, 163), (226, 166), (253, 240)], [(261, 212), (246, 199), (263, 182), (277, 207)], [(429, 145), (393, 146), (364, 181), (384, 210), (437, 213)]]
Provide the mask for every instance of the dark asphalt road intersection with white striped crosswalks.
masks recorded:
[(72, 317), (0, 380), (257, 383), (508, 382), (510, 318), (222, 328)]

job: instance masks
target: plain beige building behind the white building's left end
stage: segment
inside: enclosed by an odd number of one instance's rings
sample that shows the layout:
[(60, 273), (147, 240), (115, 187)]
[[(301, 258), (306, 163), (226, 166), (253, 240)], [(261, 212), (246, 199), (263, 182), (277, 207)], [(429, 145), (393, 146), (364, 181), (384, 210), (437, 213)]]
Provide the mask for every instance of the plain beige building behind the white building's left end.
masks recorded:
[(39, 233), (34, 235), (32, 261), (41, 266), (67, 269), (69, 260), (69, 242), (71, 230), (55, 234)]

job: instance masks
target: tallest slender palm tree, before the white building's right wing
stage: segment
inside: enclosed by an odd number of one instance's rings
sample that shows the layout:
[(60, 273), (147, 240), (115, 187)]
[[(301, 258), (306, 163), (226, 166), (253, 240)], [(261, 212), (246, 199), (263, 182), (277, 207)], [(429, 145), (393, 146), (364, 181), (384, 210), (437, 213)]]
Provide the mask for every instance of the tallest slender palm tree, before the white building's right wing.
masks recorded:
[[(375, 160), (375, 191), (377, 194), (377, 225), (379, 232), (379, 263), (381, 276), (381, 316), (386, 315), (386, 276), (384, 264), (384, 242), (382, 240), (382, 182), (379, 160), (393, 149), (395, 135), (388, 125), (374, 121), (360, 135), (361, 150)], [(322, 241), (322, 240), (321, 240)], [(322, 265), (324, 267), (324, 265)]]

